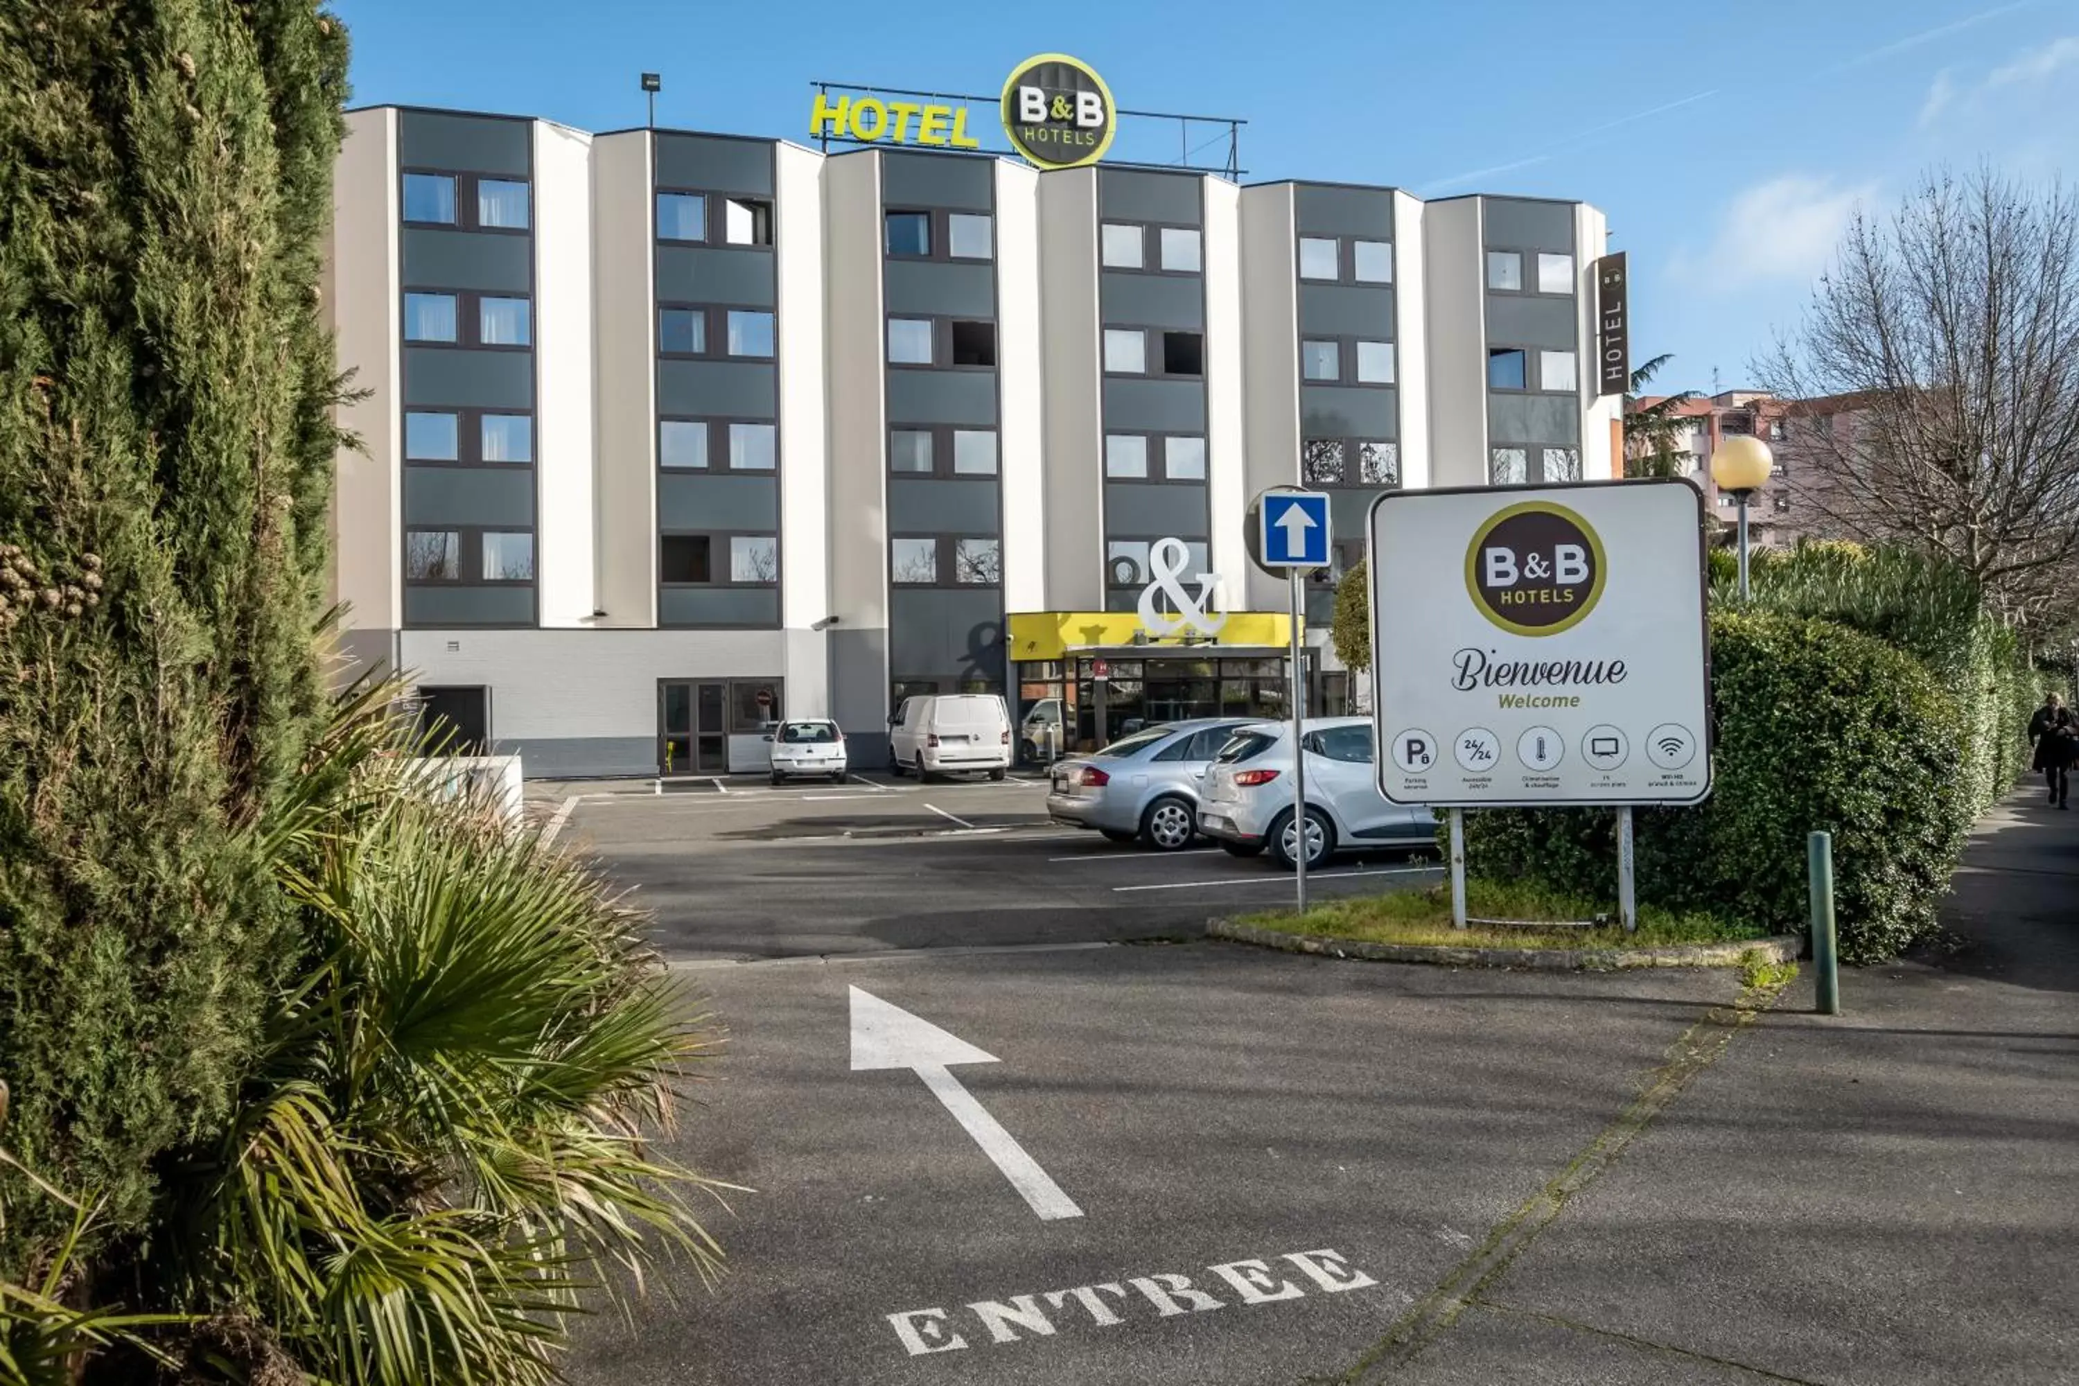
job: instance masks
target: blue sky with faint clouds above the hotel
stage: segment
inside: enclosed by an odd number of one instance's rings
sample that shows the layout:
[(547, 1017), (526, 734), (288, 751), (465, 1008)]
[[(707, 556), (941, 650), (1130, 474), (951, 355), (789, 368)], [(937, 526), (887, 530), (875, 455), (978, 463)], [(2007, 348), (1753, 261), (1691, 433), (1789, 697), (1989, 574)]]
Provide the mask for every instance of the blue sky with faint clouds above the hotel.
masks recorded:
[(642, 123), (642, 69), (659, 125), (802, 139), (813, 79), (994, 91), (1071, 52), (1121, 106), (1247, 118), (1245, 181), (1595, 202), (1630, 251), (1634, 359), (1674, 351), (1663, 382), (1705, 391), (1796, 322), (1857, 206), (1936, 164), (2048, 181), (2079, 156), (2079, 0), (337, 8), (356, 104), (593, 131)]

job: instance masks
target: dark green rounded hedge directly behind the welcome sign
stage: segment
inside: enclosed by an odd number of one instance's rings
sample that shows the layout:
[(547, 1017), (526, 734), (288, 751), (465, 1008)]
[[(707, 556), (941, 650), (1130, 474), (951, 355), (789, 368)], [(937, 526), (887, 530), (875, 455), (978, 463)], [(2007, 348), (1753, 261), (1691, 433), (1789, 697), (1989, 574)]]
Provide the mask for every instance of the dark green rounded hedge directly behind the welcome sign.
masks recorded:
[[(1956, 702), (1911, 655), (1817, 619), (1719, 607), (1711, 617), (1715, 790), (1636, 817), (1638, 898), (1769, 929), (1807, 918), (1805, 835), (1834, 833), (1842, 958), (1925, 935), (1973, 819)], [(1609, 896), (1607, 810), (1466, 819), (1482, 875)]]

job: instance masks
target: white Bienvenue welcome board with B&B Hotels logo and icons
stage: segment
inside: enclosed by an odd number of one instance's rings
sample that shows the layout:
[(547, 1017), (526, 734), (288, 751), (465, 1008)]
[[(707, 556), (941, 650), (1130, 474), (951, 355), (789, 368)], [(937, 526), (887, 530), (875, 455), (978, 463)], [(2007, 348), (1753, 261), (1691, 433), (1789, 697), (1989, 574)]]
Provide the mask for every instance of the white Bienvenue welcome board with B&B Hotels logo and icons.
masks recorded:
[(1368, 532), (1389, 800), (1694, 804), (1711, 792), (1696, 486), (1389, 490)]

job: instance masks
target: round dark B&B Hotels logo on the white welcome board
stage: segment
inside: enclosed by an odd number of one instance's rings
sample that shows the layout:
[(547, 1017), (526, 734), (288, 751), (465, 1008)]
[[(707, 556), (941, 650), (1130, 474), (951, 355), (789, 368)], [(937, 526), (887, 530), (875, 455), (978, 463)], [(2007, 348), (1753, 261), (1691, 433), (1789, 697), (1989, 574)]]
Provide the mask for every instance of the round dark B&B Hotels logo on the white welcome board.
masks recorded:
[(1551, 501), (1524, 501), (1474, 532), (1466, 592), (1511, 636), (1557, 636), (1601, 601), (1605, 567), (1603, 540), (1586, 519)]

